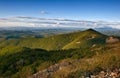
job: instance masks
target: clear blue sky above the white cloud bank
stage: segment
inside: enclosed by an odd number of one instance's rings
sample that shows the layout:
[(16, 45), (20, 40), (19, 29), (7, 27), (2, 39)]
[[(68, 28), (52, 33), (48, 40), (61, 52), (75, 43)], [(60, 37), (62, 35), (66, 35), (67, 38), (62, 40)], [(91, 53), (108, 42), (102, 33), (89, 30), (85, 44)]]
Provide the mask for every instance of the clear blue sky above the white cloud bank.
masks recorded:
[(0, 17), (120, 21), (120, 0), (0, 0)]

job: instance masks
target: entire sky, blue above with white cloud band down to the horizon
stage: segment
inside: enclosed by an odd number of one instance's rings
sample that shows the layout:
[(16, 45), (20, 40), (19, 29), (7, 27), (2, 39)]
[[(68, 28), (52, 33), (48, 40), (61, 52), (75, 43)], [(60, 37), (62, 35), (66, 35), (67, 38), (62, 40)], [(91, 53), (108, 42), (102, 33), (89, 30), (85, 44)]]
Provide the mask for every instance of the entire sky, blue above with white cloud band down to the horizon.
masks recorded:
[(120, 29), (120, 0), (0, 0), (0, 27)]

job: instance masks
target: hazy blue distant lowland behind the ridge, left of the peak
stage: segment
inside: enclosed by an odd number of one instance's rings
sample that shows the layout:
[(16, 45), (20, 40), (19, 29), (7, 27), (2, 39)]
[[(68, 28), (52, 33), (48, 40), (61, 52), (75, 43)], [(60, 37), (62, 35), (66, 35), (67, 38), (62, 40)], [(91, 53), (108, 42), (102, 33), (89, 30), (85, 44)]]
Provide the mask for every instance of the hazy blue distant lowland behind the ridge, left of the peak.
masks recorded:
[(9, 39), (43, 38), (75, 31), (63, 28), (0, 27), (0, 42)]

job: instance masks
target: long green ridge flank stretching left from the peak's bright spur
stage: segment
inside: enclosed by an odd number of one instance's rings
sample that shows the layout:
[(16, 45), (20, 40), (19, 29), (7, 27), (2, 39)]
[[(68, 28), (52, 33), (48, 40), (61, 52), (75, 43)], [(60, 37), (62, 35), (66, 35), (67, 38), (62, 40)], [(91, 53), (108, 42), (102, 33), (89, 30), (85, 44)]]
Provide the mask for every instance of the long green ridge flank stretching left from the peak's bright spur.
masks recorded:
[(42, 48), (47, 50), (56, 50), (61, 49), (66, 44), (73, 41), (76, 37), (79, 36), (81, 32), (74, 32), (68, 34), (61, 34), (56, 36), (51, 36), (47, 38), (24, 38), (24, 39), (12, 39), (5, 41), (0, 44), (0, 47), (5, 46), (22, 46), (30, 48)]

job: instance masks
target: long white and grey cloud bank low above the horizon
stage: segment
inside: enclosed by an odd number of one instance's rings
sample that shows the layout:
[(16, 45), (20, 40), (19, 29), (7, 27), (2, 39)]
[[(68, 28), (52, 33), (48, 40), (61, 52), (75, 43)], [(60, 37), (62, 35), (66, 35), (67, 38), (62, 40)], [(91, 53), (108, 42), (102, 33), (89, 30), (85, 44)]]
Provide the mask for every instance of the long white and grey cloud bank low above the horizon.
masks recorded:
[(120, 22), (85, 21), (71, 19), (48, 19), (36, 17), (9, 17), (0, 18), (0, 27), (74, 27), (74, 28), (103, 28), (111, 27), (120, 29)]

